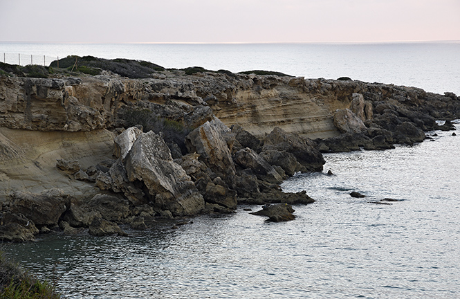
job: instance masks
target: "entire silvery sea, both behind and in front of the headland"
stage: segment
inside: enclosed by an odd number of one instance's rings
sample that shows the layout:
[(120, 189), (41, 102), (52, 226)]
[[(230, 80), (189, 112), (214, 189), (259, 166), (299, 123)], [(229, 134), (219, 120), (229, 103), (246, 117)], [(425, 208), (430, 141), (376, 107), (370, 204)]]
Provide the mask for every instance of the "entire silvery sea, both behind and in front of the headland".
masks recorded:
[[(1, 54), (23, 57), (21, 64), (24, 57), (38, 63), (92, 55), (176, 69), (347, 76), (460, 95), (460, 42), (0, 42), (0, 61)], [(177, 228), (126, 228), (129, 237), (51, 234), (0, 248), (66, 298), (460, 298), (460, 134), (427, 135), (432, 139), (385, 151), (324, 154), (323, 172), (295, 174), (281, 185), (315, 199), (293, 206), (293, 221), (268, 223), (248, 211), (260, 206), (239, 206)]]

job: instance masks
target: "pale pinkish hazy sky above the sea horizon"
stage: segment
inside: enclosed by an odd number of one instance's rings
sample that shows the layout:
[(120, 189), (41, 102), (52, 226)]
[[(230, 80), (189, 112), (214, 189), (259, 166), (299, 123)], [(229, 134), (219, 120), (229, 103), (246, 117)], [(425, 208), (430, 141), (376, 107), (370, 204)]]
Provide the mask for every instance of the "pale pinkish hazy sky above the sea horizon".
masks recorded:
[(460, 0), (0, 0), (0, 42), (460, 40)]

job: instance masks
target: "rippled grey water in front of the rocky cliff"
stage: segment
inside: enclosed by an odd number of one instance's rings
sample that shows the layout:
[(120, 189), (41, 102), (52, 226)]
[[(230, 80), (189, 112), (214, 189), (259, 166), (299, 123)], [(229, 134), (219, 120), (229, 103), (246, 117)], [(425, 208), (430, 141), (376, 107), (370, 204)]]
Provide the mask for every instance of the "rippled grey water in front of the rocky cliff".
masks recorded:
[[(335, 175), (282, 185), (317, 200), (294, 206), (294, 221), (266, 223), (243, 210), (259, 206), (241, 206), (177, 230), (3, 249), (68, 298), (459, 298), (460, 136), (437, 133), (412, 147), (326, 154)], [(401, 201), (369, 203), (383, 198)]]

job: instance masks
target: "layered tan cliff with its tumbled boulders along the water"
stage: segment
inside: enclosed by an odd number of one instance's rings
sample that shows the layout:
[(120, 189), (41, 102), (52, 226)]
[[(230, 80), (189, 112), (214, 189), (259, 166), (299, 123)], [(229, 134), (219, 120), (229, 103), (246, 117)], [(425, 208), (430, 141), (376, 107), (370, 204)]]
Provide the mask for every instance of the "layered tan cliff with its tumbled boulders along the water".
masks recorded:
[(353, 80), (0, 75), (0, 239), (126, 235), (121, 224), (148, 229), (242, 203), (293, 211), (314, 200), (279, 184), (322, 171), (322, 153), (412, 145), (456, 118), (453, 93)]

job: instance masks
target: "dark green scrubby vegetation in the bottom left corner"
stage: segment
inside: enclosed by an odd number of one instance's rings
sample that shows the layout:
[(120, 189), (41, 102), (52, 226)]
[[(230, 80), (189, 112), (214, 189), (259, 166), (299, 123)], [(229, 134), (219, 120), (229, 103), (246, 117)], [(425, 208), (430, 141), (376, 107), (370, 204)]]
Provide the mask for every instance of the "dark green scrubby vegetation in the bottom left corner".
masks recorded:
[(0, 252), (0, 299), (59, 299), (62, 298), (48, 282), (40, 282), (24, 273), (17, 264)]

